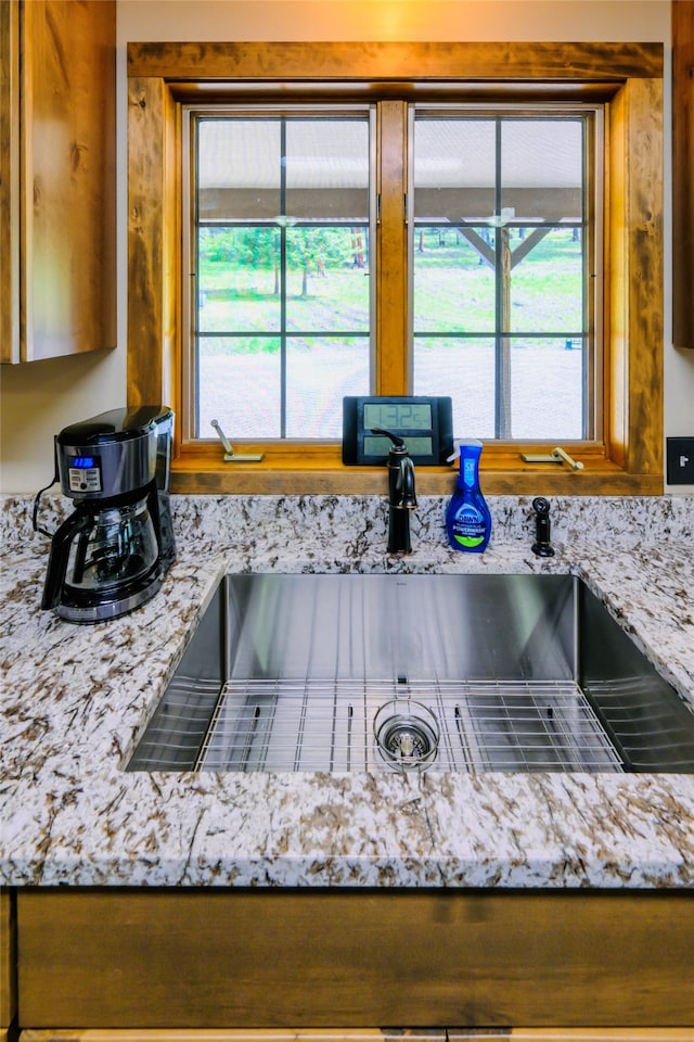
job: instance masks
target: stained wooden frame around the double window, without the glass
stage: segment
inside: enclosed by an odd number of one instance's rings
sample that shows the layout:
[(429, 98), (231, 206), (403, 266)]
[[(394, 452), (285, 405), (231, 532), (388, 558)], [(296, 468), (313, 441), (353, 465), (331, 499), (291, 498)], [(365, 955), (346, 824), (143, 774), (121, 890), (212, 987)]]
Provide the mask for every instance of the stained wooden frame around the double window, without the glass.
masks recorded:
[[(487, 443), (494, 494), (663, 493), (663, 47), (659, 43), (130, 43), (128, 46), (128, 401), (176, 405), (182, 391), (180, 105), (306, 99), (349, 90), (402, 119), (403, 96), (446, 101), (604, 102), (606, 107), (603, 441), (581, 443), (581, 471), (528, 465), (534, 446)], [(387, 149), (388, 142), (382, 147)], [(382, 162), (401, 167), (401, 151)], [(383, 206), (402, 205), (382, 196)], [(407, 300), (407, 230), (380, 266), (383, 301)], [(383, 262), (383, 258), (382, 258)], [(397, 314), (397, 319), (384, 316)], [(382, 326), (386, 322), (386, 326)], [(403, 309), (383, 306), (380, 343), (406, 343)], [(404, 352), (403, 352), (404, 355)], [(384, 356), (385, 357), (385, 356)], [(378, 378), (381, 379), (381, 378)], [(244, 449), (247, 443), (244, 443)], [(177, 444), (178, 493), (382, 494), (385, 468), (344, 467), (338, 446), (266, 449), (260, 463), (224, 463), (220, 446)], [(421, 468), (421, 494), (448, 494), (449, 468)]]

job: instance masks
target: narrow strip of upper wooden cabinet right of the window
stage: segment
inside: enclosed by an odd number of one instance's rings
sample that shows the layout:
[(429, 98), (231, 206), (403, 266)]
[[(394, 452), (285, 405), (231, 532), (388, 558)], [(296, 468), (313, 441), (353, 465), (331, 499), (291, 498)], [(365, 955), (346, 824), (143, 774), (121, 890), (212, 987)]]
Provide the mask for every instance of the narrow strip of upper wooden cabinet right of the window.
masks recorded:
[(694, 348), (694, 0), (672, 3), (672, 339)]

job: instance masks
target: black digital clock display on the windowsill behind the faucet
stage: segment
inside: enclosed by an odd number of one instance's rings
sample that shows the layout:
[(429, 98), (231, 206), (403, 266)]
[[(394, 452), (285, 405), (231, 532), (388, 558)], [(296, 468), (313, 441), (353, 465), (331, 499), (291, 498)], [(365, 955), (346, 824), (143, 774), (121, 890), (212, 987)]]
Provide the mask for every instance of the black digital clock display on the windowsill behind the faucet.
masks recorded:
[(446, 463), (453, 452), (453, 408), (449, 397), (363, 395), (343, 398), (343, 462), (386, 463), (391, 442), (376, 430), (401, 437), (420, 466)]

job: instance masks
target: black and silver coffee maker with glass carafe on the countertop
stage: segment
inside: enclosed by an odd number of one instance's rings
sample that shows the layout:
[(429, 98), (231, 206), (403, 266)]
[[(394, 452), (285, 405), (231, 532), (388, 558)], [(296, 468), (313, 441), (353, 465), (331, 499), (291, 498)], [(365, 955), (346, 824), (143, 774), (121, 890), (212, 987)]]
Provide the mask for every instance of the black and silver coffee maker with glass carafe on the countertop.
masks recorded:
[(92, 623), (154, 597), (176, 557), (172, 434), (172, 411), (143, 405), (102, 412), (56, 435), (54, 481), (75, 511), (52, 536), (41, 608)]

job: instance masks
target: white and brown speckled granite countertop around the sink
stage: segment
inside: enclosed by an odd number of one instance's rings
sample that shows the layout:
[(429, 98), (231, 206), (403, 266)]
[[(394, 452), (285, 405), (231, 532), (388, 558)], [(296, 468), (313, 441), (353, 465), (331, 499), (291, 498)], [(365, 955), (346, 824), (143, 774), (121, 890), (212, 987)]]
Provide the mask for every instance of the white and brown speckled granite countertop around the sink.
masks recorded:
[(484, 555), (448, 549), (444, 505), (396, 559), (378, 497), (175, 497), (163, 590), (75, 626), (40, 611), (48, 542), (8, 497), (0, 884), (693, 887), (691, 775), (125, 772), (224, 571), (571, 572), (694, 708), (694, 500), (556, 500), (548, 560), (527, 500), (490, 499)]

